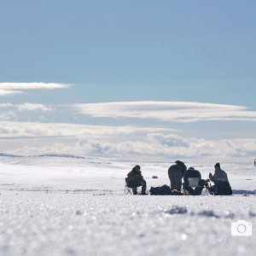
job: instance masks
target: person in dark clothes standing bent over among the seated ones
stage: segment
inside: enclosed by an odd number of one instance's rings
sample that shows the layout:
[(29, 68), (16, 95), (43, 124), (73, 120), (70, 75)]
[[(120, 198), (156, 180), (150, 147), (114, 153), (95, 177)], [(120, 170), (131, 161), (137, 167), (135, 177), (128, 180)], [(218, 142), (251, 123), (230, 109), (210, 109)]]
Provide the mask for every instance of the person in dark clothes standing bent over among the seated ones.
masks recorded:
[(168, 169), (168, 176), (171, 181), (171, 189), (176, 188), (177, 191), (181, 192), (182, 179), (184, 172), (187, 170), (187, 166), (180, 160), (177, 160), (175, 164), (176, 165), (170, 166)]

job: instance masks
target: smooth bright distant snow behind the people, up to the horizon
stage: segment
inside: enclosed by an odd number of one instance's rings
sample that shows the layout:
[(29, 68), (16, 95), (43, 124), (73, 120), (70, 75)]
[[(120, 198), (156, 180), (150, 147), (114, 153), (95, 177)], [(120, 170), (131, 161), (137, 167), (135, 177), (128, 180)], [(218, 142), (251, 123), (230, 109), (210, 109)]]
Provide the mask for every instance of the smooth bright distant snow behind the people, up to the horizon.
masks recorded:
[[(170, 185), (167, 162), (142, 163), (134, 160), (74, 157), (13, 157), (0, 156), (0, 193), (24, 191), (43, 193), (86, 193), (123, 195), (125, 177), (132, 167), (139, 164), (143, 177), (151, 186)], [(207, 178), (214, 172), (215, 163), (186, 162)], [(228, 173), (234, 194), (256, 194), (256, 168), (253, 163), (221, 163)], [(157, 176), (157, 179), (153, 179)], [(10, 190), (12, 189), (12, 190)]]

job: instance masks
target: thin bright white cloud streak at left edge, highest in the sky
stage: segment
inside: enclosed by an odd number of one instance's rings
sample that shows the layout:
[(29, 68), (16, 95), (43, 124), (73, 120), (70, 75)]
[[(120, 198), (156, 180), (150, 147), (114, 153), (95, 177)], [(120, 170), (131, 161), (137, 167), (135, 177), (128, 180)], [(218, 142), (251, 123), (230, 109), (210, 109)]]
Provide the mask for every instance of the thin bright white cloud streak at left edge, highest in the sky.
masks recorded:
[(0, 83), (0, 96), (9, 96), (23, 93), (23, 90), (54, 90), (67, 88), (71, 84), (56, 84), (56, 83)]

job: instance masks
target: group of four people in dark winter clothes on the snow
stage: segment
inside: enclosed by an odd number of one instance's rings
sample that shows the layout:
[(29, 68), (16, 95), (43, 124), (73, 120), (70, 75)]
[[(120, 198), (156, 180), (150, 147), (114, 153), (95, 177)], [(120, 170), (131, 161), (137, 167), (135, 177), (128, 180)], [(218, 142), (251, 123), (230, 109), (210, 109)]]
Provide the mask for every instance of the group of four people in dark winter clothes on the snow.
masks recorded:
[[(183, 189), (189, 192), (189, 195), (201, 195), (201, 191), (203, 188), (207, 188), (210, 192), (212, 191), (212, 195), (218, 195), (217, 191), (223, 187), (224, 189), (231, 190), (229, 179), (227, 173), (224, 172), (221, 168), (219, 163), (214, 166), (215, 172), (209, 173), (209, 179), (204, 180), (201, 178), (201, 173), (195, 170), (194, 167), (189, 167), (183, 163), (183, 161), (177, 160), (174, 165), (170, 166), (168, 169), (168, 176), (171, 182), (171, 189), (176, 189), (177, 191), (181, 192), (182, 186)], [(137, 187), (142, 186), (141, 195), (147, 195), (147, 183), (143, 178), (141, 167), (135, 166), (127, 174), (126, 183), (127, 186), (132, 188), (133, 195), (137, 195)], [(195, 189), (189, 186), (189, 178), (197, 178), (198, 186)], [(214, 185), (209, 188), (207, 182), (212, 181)], [(224, 195), (230, 195), (231, 192), (223, 192), (226, 193)], [(229, 194), (230, 193), (230, 194)], [(221, 195), (221, 194), (219, 194)]]

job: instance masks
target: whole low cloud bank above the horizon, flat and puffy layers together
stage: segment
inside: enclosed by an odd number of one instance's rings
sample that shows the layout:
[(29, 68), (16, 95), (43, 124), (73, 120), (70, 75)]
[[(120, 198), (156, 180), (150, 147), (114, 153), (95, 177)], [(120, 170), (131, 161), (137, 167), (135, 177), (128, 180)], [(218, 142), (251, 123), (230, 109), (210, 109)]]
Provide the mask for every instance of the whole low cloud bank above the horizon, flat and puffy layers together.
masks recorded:
[[(52, 138), (52, 144), (43, 146), (45, 137)], [(256, 154), (256, 139), (206, 140), (197, 137), (181, 137), (172, 129), (1, 122), (0, 139), (27, 139), (35, 146), (7, 149), (3, 153), (77, 154), (132, 159), (210, 159), (253, 158)], [(61, 139), (61, 143), (56, 142)], [(64, 138), (73, 138), (73, 145)], [(75, 143), (75, 141), (77, 143)], [(41, 143), (42, 142), (42, 143)], [(41, 146), (40, 146), (41, 145)]]

